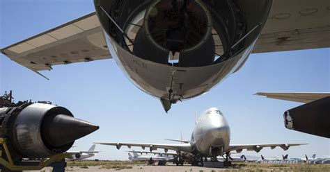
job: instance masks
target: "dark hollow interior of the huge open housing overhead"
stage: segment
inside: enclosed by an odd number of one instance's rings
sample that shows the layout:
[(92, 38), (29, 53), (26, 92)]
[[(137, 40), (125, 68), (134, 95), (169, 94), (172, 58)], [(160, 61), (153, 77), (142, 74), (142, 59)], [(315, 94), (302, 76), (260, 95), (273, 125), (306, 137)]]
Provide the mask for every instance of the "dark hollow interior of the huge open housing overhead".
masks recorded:
[(242, 38), (265, 24), (271, 2), (95, 0), (95, 6), (106, 32), (130, 53), (164, 65), (203, 67), (253, 44), (262, 27)]

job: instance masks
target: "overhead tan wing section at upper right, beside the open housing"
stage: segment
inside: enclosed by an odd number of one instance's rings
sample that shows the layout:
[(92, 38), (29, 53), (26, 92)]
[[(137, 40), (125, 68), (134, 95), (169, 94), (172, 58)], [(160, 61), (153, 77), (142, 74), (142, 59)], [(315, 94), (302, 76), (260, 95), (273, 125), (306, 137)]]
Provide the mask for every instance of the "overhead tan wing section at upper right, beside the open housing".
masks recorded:
[(274, 0), (253, 53), (330, 47), (329, 0)]

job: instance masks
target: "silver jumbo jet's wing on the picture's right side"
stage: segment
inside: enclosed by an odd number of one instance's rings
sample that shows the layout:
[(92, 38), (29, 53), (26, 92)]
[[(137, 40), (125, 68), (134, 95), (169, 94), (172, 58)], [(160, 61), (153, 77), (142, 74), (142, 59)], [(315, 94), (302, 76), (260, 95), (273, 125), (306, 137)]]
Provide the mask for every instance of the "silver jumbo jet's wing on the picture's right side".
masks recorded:
[(262, 148), (276, 148), (281, 147), (283, 150), (288, 150), (290, 146), (300, 146), (300, 145), (305, 145), (305, 144), (243, 144), (243, 145), (230, 145), (226, 152), (231, 152), (236, 150), (237, 153), (240, 153), (243, 149), (246, 150), (255, 150), (257, 153), (262, 149)]

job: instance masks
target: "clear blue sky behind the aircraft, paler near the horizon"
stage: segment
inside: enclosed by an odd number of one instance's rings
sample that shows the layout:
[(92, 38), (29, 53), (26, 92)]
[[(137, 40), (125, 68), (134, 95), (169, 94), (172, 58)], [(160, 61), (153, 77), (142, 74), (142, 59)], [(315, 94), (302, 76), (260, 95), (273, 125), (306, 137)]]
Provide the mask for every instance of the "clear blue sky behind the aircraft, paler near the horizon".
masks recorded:
[[(1, 0), (0, 49), (94, 10), (93, 1)], [(67, 107), (75, 117), (100, 126), (76, 141), (76, 150), (93, 141), (171, 143), (190, 139), (194, 112), (219, 107), (231, 129), (232, 144), (309, 143), (308, 146), (265, 148), (267, 157), (330, 154), (330, 141), (287, 130), (283, 112), (301, 103), (278, 101), (256, 92), (330, 92), (330, 49), (253, 54), (244, 67), (203, 96), (173, 105), (166, 114), (156, 98), (141, 92), (113, 60), (61, 65), (45, 71), (50, 80), (0, 55), (0, 93), (13, 90), (15, 100), (47, 100)], [(136, 148), (138, 150), (139, 148)], [(127, 160), (127, 148), (97, 146), (96, 156)], [(244, 152), (245, 153), (245, 152)], [(246, 155), (260, 155), (247, 152)]]

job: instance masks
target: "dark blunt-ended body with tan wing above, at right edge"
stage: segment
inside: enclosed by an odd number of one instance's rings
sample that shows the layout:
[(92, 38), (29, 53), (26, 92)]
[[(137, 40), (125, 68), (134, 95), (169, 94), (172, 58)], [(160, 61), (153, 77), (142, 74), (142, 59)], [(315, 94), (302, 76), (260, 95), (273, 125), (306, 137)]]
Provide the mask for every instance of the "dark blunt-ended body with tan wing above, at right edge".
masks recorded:
[(258, 92), (256, 95), (306, 103), (284, 112), (283, 117), (285, 128), (330, 138), (329, 92)]

